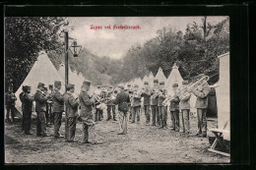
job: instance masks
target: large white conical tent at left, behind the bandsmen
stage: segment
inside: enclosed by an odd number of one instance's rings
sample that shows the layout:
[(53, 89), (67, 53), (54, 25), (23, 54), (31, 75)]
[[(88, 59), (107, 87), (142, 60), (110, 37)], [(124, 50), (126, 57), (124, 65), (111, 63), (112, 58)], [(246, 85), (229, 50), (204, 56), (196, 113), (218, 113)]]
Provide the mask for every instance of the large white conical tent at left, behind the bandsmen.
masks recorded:
[[(31, 93), (34, 94), (38, 83), (43, 83), (46, 87), (48, 87), (49, 85), (53, 85), (54, 81), (60, 81), (62, 83), (61, 92), (64, 92), (64, 80), (51, 63), (47, 54), (44, 51), (41, 51), (39, 52), (39, 56), (32, 66), (32, 70), (28, 74), (23, 84), (15, 92), (15, 95), (19, 97), (19, 94), (22, 92), (23, 85), (32, 86)], [(20, 113), (22, 112), (22, 103), (20, 99), (18, 99), (16, 102), (16, 108)]]

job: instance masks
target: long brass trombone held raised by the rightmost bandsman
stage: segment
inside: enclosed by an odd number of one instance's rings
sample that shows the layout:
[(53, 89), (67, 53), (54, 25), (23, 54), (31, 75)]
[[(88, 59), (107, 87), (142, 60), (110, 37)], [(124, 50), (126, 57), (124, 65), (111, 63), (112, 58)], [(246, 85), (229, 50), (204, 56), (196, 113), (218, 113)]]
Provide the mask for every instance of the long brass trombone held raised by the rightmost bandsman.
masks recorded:
[(209, 81), (209, 77), (205, 76), (204, 74), (201, 74), (198, 77), (199, 79), (196, 79), (196, 82), (191, 83), (176, 92), (176, 94), (179, 96), (179, 99), (183, 99), (189, 95), (193, 89), (196, 89), (198, 86), (203, 85), (205, 82)]

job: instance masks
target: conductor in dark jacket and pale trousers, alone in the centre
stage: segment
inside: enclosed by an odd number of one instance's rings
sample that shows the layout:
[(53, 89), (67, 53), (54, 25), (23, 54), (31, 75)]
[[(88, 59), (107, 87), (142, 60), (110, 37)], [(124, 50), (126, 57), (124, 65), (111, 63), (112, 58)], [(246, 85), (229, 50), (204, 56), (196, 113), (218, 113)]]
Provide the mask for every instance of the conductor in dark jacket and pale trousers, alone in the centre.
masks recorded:
[(128, 103), (130, 102), (129, 94), (124, 92), (124, 87), (120, 87), (120, 92), (117, 94), (116, 99), (113, 100), (114, 104), (118, 104), (118, 114), (121, 132), (118, 135), (127, 134), (127, 112)]

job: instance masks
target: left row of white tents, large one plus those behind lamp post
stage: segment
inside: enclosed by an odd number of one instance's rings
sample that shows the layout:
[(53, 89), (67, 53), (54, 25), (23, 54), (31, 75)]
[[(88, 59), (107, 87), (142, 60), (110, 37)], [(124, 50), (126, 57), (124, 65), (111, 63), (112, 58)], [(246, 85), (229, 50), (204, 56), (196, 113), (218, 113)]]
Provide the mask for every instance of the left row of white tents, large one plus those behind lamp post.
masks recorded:
[[(62, 83), (61, 92), (65, 91), (65, 66), (62, 64), (60, 65), (59, 70), (57, 71), (56, 68), (53, 66), (52, 62), (50, 61), (49, 57), (44, 51), (39, 52), (37, 60), (32, 66), (30, 73), (28, 74), (27, 78), (23, 82), (23, 84), (18, 88), (15, 92), (16, 96), (22, 92), (23, 85), (30, 85), (32, 86), (32, 94), (35, 93), (37, 89), (38, 83), (43, 83), (45, 87), (49, 88), (49, 85), (54, 85), (55, 81), (59, 81)], [(69, 83), (75, 85), (75, 93), (78, 95), (83, 85), (85, 77), (80, 73), (77, 74), (76, 71), (72, 72), (69, 68)], [(93, 86), (95, 88), (95, 86)], [(20, 99), (16, 102), (16, 108), (21, 113), (22, 111), (22, 103)]]

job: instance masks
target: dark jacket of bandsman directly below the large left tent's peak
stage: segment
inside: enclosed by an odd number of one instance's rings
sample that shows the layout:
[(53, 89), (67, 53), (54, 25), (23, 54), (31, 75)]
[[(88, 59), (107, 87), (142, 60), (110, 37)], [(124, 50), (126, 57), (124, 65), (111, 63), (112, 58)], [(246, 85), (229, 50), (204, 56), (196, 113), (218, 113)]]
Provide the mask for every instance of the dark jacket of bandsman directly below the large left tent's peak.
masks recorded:
[(40, 90), (36, 89), (34, 93), (34, 101), (35, 101), (35, 112), (46, 112), (46, 95)]

